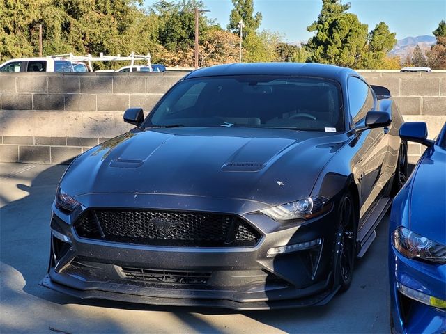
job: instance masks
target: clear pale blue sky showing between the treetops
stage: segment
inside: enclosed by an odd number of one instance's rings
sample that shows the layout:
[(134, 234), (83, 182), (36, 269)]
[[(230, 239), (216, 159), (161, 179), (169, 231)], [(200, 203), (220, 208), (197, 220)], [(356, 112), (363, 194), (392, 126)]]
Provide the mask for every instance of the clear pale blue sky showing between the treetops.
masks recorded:
[[(202, 0), (210, 13), (206, 16), (216, 19), (226, 29), (233, 9), (231, 0)], [(146, 0), (151, 6), (155, 0)], [(397, 39), (408, 36), (432, 35), (442, 19), (446, 20), (446, 0), (349, 0), (348, 10), (368, 24), (369, 31), (383, 21)], [(307, 26), (312, 24), (322, 8), (321, 0), (254, 0), (254, 13), (261, 12), (263, 19), (260, 30), (275, 31), (282, 35), (284, 42), (307, 41), (312, 33)]]

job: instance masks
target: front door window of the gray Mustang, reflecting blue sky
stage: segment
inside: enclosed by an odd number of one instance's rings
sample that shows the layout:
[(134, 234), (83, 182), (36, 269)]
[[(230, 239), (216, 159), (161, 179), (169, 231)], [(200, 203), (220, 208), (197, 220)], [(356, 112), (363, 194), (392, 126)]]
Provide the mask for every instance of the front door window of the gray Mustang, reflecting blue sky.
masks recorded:
[(374, 107), (374, 95), (367, 84), (357, 77), (348, 79), (348, 109), (352, 124), (365, 117)]

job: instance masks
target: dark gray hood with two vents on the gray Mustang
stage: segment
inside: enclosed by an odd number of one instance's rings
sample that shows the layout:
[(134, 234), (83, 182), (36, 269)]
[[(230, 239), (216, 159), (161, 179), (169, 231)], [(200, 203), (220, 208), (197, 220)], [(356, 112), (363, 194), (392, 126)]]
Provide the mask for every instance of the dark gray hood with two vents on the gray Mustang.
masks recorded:
[(132, 130), (78, 157), (61, 188), (231, 198), (278, 205), (310, 195), (341, 134), (287, 129)]

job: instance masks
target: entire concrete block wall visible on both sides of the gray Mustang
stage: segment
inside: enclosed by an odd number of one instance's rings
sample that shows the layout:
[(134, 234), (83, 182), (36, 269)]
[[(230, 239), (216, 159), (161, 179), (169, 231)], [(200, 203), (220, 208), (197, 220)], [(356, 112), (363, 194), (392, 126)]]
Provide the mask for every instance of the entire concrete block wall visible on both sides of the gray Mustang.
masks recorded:
[[(123, 111), (150, 111), (187, 72), (0, 73), (0, 161), (58, 164), (128, 131)], [(390, 89), (406, 121), (446, 122), (446, 73), (362, 72)], [(422, 153), (409, 144), (410, 161)]]

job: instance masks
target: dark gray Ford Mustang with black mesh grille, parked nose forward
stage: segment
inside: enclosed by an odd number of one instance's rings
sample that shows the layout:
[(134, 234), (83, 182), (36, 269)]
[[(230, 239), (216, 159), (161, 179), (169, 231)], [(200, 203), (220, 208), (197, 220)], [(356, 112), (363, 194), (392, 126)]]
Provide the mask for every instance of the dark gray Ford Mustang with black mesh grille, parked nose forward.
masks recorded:
[(124, 121), (136, 127), (59, 183), (45, 287), (157, 305), (322, 305), (348, 289), (406, 180), (397, 106), (347, 68), (209, 67)]

